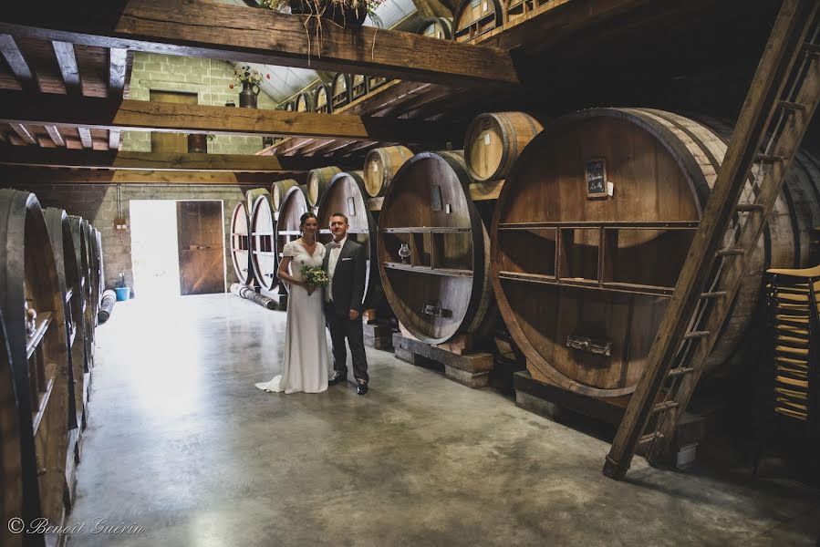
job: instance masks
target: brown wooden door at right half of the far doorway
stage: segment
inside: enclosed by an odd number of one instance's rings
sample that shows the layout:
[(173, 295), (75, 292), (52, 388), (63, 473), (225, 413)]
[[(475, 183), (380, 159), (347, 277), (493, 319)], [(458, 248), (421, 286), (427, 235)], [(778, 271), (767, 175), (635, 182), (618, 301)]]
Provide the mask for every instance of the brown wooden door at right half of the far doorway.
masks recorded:
[(225, 292), (222, 201), (177, 201), (180, 294)]

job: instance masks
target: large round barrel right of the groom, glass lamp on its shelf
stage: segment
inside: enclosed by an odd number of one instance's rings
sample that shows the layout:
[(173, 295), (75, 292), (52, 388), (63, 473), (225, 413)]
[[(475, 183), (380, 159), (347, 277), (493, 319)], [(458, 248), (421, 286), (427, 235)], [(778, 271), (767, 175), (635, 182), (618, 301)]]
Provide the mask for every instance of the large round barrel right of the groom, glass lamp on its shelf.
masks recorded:
[[(470, 198), (460, 152), (423, 152), (396, 173), (379, 215), (379, 272), (412, 335), (439, 344), (472, 334), (492, 300), (490, 239)], [(409, 263), (400, 247), (410, 248)]]

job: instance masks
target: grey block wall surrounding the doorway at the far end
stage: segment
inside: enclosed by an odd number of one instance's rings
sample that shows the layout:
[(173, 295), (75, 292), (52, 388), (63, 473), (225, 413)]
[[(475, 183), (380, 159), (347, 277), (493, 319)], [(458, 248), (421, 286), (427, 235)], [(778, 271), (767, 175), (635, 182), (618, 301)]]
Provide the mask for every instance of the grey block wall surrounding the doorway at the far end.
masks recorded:
[[(106, 287), (119, 285), (119, 273), (125, 274), (126, 283), (134, 286), (131, 266), (130, 231), (114, 230), (117, 218), (117, 187), (102, 184), (27, 184), (19, 190), (32, 191), (43, 207), (58, 207), (68, 214), (79, 215), (91, 222), (102, 237)], [(225, 225), (225, 264), (228, 286), (237, 281), (231, 262), (228, 238), (231, 233), (231, 214), (236, 203), (244, 199), (240, 186), (161, 186), (151, 184), (123, 184), (120, 186), (122, 213), (130, 219), (130, 200), (219, 200), (223, 201)]]

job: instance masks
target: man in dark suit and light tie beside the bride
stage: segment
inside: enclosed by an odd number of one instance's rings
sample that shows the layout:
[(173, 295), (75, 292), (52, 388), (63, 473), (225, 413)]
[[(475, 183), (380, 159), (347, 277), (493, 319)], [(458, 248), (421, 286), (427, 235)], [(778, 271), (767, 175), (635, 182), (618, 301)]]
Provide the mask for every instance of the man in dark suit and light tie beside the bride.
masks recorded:
[(368, 358), (365, 356), (364, 332), (361, 325), (361, 300), (365, 292), (367, 263), (365, 248), (348, 239), (348, 217), (340, 212), (330, 215), (333, 241), (325, 245), (322, 267), (330, 278), (325, 288), (325, 317), (333, 342), (333, 376), (327, 384), (335, 386), (348, 378), (348, 339), (353, 356), (353, 376), (356, 392), (368, 392)]

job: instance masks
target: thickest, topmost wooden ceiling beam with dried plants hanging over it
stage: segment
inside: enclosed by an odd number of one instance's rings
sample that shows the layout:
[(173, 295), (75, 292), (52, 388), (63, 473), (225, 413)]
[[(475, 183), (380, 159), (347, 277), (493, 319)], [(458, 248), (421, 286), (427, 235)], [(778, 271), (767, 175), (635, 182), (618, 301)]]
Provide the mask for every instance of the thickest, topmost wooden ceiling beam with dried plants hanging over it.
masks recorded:
[(365, 26), (327, 24), (317, 39), (300, 15), (202, 0), (87, 0), (14, 3), (0, 32), (88, 46), (255, 62), (445, 84), (515, 85), (509, 52)]

